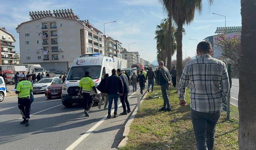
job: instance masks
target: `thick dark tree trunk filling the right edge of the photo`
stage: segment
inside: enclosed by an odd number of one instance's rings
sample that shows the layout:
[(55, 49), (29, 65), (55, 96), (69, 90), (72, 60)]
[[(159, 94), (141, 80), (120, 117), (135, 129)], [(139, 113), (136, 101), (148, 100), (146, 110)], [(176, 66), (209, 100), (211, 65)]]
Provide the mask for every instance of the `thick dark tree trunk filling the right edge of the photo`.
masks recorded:
[(239, 64), (239, 149), (256, 150), (256, 3), (241, 0), (242, 36)]

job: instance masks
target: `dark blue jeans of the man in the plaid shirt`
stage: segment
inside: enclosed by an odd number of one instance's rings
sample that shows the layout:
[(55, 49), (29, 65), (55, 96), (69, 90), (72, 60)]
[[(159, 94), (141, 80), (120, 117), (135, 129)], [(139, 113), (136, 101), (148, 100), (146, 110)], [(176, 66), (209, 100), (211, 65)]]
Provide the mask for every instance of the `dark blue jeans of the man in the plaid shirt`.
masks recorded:
[(205, 113), (191, 109), (191, 120), (198, 150), (213, 150), (215, 126), (219, 118), (220, 111)]

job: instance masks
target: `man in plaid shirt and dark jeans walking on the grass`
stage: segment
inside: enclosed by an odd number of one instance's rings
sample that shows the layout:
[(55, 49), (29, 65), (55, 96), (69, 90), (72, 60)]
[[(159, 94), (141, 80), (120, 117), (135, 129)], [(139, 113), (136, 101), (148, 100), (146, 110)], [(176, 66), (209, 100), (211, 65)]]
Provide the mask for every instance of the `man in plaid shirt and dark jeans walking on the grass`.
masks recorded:
[(213, 150), (215, 126), (229, 91), (228, 72), (224, 62), (210, 56), (210, 42), (200, 42), (196, 52), (198, 57), (186, 63), (180, 78), (179, 104), (186, 105), (184, 97), (189, 84), (197, 149)]

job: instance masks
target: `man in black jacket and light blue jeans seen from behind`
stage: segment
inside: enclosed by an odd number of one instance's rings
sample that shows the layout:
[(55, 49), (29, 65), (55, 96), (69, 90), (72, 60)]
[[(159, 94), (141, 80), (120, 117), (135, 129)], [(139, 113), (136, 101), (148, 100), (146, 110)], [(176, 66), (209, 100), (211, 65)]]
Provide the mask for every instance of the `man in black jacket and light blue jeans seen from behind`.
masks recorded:
[[(108, 95), (108, 116), (111, 118), (111, 108), (114, 99), (114, 118), (118, 117), (118, 98), (122, 96), (124, 92), (124, 85), (120, 76), (117, 76), (116, 69), (112, 69), (112, 75), (108, 77), (106, 81), (105, 92)], [(114, 86), (113, 86), (114, 85)]]

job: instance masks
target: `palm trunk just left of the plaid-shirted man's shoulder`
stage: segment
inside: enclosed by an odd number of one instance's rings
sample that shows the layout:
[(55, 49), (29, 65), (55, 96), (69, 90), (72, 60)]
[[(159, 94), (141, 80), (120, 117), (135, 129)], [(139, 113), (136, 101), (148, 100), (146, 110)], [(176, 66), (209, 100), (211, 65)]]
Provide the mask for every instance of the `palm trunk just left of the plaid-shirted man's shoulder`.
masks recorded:
[[(180, 77), (182, 74), (182, 27), (183, 24), (181, 21), (178, 22), (178, 30), (177, 30), (177, 55), (176, 55), (176, 60), (177, 60), (177, 74), (176, 74), (176, 81), (177, 83), (180, 82)], [(177, 90), (178, 90), (178, 86)]]

